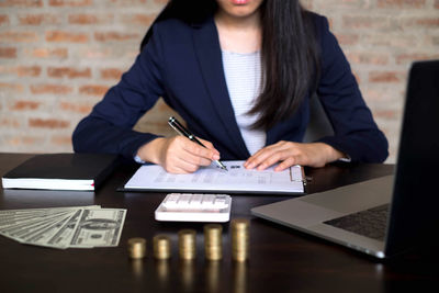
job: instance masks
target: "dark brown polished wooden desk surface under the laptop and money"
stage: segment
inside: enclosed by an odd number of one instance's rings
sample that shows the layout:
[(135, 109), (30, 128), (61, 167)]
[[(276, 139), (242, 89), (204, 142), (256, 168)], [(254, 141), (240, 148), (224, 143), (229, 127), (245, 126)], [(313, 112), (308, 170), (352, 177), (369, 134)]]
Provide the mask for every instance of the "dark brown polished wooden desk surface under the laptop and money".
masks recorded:
[[(32, 155), (0, 154), (0, 174)], [(0, 237), (1, 292), (426, 292), (438, 288), (438, 253), (434, 248), (379, 262), (347, 248), (278, 226), (250, 215), (257, 205), (289, 196), (235, 195), (232, 217), (247, 217), (250, 226), (250, 260), (230, 260), (228, 223), (223, 228), (224, 259), (204, 260), (203, 224), (158, 223), (154, 211), (164, 193), (123, 193), (116, 188), (135, 166), (116, 170), (94, 192), (0, 190), (0, 209), (30, 209), (100, 204), (127, 209), (117, 248), (56, 250), (21, 245)], [(390, 165), (334, 165), (309, 169), (308, 193), (349, 184), (393, 172)], [(408, 215), (407, 215), (408, 216)], [(178, 259), (177, 233), (198, 232), (196, 260)], [(130, 261), (126, 240), (145, 237), (151, 251), (153, 236), (171, 237), (172, 258), (158, 262), (149, 256)], [(434, 292), (435, 290), (428, 290)], [(407, 292), (407, 291), (405, 291)], [(438, 291), (436, 291), (438, 292)]]

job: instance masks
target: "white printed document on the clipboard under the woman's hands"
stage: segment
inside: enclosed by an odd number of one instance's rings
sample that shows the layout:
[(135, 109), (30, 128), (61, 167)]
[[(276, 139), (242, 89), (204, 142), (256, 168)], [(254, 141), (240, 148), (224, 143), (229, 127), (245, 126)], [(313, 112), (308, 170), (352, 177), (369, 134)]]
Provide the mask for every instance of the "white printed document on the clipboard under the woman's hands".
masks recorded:
[(244, 161), (223, 161), (189, 174), (168, 173), (161, 166), (144, 165), (125, 184), (126, 190), (229, 192), (229, 193), (303, 193), (303, 169), (292, 166), (283, 171), (274, 167), (263, 171), (248, 170)]

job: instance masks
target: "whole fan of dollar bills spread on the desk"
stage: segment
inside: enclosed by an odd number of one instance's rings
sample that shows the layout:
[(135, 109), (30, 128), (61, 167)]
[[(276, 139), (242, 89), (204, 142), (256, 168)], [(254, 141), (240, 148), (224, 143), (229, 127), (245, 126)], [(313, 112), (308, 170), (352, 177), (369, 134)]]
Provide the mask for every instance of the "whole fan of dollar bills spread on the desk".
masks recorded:
[(114, 247), (125, 215), (126, 210), (99, 205), (0, 211), (0, 235), (57, 249)]

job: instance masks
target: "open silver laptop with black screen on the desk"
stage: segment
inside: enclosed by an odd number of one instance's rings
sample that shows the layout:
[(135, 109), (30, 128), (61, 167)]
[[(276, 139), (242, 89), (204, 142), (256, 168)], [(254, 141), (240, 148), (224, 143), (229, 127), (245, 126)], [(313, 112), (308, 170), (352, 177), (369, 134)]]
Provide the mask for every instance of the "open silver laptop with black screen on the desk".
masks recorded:
[(393, 176), (251, 209), (288, 227), (387, 258), (439, 232), (439, 60), (412, 65)]

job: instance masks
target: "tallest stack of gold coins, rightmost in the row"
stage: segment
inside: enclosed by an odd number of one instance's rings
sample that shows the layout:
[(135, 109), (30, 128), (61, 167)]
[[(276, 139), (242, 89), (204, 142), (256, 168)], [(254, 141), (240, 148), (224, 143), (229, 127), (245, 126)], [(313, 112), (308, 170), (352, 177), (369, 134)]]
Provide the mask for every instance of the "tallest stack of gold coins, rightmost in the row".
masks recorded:
[(232, 258), (236, 261), (246, 261), (250, 244), (250, 222), (246, 218), (232, 221)]

